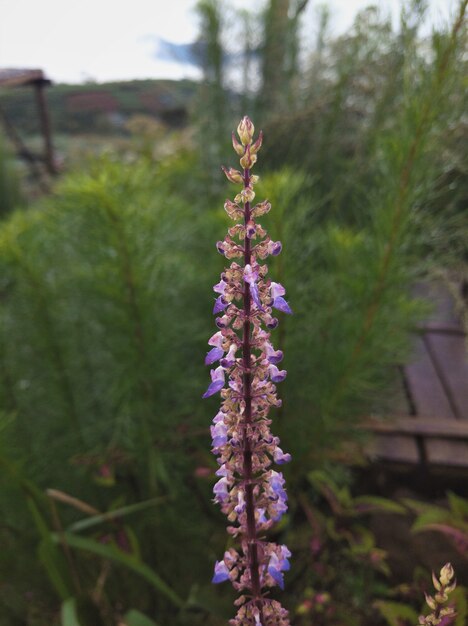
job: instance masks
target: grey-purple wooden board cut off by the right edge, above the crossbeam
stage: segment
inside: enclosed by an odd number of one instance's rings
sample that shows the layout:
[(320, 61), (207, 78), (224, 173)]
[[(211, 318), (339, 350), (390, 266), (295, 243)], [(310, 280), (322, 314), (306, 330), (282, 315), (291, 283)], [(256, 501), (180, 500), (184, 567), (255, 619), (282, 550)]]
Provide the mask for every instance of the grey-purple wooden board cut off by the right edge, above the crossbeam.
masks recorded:
[(427, 333), (424, 342), (453, 414), (468, 421), (468, 358), (464, 338)]

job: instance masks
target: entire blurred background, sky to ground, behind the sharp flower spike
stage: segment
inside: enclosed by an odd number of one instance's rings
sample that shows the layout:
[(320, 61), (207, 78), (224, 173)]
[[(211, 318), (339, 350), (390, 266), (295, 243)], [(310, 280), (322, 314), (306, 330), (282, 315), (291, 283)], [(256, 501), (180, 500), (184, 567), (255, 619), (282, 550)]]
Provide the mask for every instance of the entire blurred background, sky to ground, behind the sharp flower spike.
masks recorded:
[(463, 626), (466, 1), (172, 4), (0, 5), (0, 624), (234, 614), (201, 395), (248, 114), (294, 310), (282, 602), (413, 626), (450, 560)]

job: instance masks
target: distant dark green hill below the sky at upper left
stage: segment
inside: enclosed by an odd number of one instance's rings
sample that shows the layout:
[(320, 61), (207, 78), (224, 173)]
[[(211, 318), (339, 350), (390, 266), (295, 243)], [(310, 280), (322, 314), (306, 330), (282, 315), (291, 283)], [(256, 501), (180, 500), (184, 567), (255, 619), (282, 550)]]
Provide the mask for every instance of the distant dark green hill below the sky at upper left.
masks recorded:
[[(46, 89), (53, 131), (110, 134), (133, 115), (143, 114), (180, 127), (187, 122), (197, 83), (189, 80), (133, 80)], [(0, 106), (23, 135), (39, 132), (35, 95), (28, 87), (0, 89)]]

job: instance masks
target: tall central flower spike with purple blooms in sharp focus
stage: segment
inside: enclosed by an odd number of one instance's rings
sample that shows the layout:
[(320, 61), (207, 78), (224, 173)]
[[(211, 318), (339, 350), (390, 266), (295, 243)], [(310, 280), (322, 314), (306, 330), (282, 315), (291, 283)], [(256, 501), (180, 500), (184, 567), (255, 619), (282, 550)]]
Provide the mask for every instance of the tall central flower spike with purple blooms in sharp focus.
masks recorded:
[(234, 202), (226, 200), (224, 208), (240, 223), (216, 247), (227, 259), (239, 258), (242, 263), (232, 261), (213, 287), (218, 294), (213, 313), (219, 314), (219, 330), (208, 341), (212, 348), (205, 363), (219, 365), (211, 370), (211, 384), (203, 397), (221, 392), (221, 409), (211, 427), (219, 463), (213, 492), (240, 549), (227, 550), (216, 562), (213, 582), (230, 580), (242, 594), (236, 600), (239, 610), (230, 621), (232, 626), (287, 626), (288, 612), (268, 597), (268, 591), (276, 585), (283, 589), (283, 572), (289, 569), (291, 553), (286, 546), (268, 541), (265, 533), (287, 510), (284, 478), (272, 465), (291, 459), (270, 432), (269, 410), (281, 405), (275, 385), (284, 380), (286, 370), (278, 368), (283, 353), (270, 343), (269, 331), (278, 324), (275, 309), (292, 311), (284, 299), (284, 287), (267, 279), (268, 267), (260, 263), (281, 252), (281, 243), (272, 241), (255, 221), (268, 213), (270, 203), (265, 200), (252, 206), (258, 176), (251, 170), (262, 133), (253, 141), (254, 126), (248, 117), (241, 120), (237, 132), (241, 141), (233, 133), (232, 142), (242, 171), (223, 170), (242, 189)]

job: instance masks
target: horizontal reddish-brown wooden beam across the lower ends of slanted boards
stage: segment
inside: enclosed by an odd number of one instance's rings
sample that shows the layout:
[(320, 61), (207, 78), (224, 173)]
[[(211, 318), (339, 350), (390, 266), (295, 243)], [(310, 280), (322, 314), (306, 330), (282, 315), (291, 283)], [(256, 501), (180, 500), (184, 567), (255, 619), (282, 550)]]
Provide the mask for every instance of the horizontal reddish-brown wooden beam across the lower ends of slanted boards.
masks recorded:
[(468, 422), (426, 417), (396, 417), (389, 420), (371, 418), (363, 428), (375, 433), (414, 435), (424, 438), (466, 439), (468, 441)]

